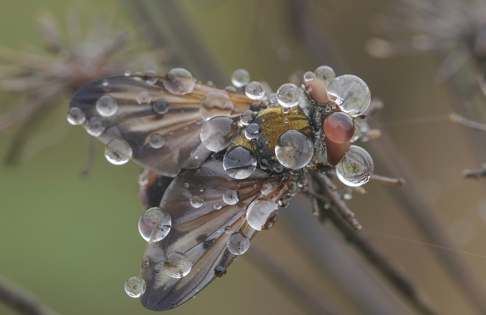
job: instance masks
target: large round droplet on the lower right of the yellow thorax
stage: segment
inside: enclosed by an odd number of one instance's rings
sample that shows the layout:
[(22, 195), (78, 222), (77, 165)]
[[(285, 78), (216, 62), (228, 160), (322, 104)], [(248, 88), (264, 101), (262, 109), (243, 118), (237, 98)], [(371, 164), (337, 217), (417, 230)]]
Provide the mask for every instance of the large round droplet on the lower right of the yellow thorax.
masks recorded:
[(312, 141), (301, 131), (284, 132), (275, 146), (278, 161), (290, 169), (300, 169), (312, 159), (314, 146)]

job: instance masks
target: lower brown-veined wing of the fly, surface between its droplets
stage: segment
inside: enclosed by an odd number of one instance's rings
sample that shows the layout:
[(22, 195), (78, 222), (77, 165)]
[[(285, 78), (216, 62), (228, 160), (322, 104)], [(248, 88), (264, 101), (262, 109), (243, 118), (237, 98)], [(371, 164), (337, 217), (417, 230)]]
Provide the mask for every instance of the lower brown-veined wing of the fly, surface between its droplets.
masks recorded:
[[(165, 239), (148, 244), (142, 260), (140, 277), (147, 289), (140, 301), (145, 308), (155, 311), (175, 308), (213, 281), (217, 266), (228, 267), (236, 257), (227, 248), (231, 233), (242, 231), (249, 239), (256, 234), (245, 220), (246, 207), (262, 196), (260, 187), (264, 183), (272, 184), (269, 196), (286, 189), (275, 177), (258, 170), (245, 180), (231, 180), (218, 160), (208, 160), (198, 169), (182, 170), (160, 205), (171, 215), (171, 231)], [(228, 205), (223, 201), (226, 189), (238, 191), (238, 203)], [(203, 198), (198, 208), (190, 202), (195, 195)], [(225, 232), (227, 226), (232, 232)], [(192, 261), (190, 272), (182, 278), (172, 278), (164, 271), (164, 259), (172, 252), (183, 252)]]

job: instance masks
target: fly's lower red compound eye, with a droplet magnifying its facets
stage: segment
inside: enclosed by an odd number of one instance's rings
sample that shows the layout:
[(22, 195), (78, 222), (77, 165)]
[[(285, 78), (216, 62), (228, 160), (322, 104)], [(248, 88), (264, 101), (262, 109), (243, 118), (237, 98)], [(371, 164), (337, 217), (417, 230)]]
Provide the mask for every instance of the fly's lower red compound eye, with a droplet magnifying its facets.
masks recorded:
[(327, 159), (336, 165), (351, 146), (355, 124), (348, 114), (337, 112), (324, 119), (322, 128), (326, 134)]

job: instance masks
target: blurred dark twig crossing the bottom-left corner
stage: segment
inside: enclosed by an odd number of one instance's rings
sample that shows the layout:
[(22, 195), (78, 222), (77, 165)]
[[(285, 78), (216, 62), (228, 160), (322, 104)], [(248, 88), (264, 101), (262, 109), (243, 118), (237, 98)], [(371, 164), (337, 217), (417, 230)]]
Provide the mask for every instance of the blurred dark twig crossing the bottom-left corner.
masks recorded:
[(60, 315), (36, 296), (0, 276), (0, 301), (20, 314)]

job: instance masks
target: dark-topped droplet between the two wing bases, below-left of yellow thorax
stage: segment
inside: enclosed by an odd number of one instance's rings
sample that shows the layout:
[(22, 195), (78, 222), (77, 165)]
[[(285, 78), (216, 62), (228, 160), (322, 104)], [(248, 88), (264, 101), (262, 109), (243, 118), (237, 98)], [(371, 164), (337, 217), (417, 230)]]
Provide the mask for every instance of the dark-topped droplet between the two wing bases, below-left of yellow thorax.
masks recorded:
[(223, 167), (230, 177), (243, 180), (255, 171), (256, 158), (247, 147), (236, 146), (226, 151)]

